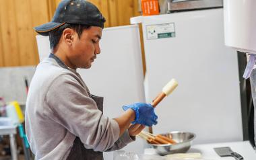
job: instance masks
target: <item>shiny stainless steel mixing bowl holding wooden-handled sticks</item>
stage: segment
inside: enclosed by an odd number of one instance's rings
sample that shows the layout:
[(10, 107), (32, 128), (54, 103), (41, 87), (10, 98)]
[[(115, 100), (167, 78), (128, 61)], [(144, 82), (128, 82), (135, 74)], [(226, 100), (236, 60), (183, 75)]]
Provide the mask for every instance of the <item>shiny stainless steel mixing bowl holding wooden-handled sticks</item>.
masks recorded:
[(192, 141), (195, 138), (195, 134), (191, 132), (169, 132), (166, 134), (161, 134), (163, 136), (172, 137), (174, 141), (177, 142), (175, 145), (153, 145), (156, 149), (156, 153), (159, 155), (168, 155), (172, 153), (185, 153), (191, 147)]

